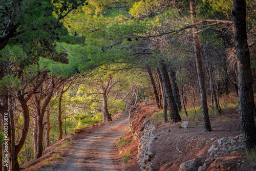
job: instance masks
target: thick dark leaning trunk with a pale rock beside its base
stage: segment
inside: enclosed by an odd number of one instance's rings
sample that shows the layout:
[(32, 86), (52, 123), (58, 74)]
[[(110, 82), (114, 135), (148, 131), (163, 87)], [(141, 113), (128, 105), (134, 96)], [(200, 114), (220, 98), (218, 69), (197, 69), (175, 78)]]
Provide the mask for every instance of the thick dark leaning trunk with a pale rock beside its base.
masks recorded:
[(170, 84), (169, 75), (166, 70), (166, 65), (164, 63), (164, 60), (160, 61), (161, 67), (159, 67), (161, 77), (163, 80), (163, 88), (166, 95), (166, 100), (168, 103), (169, 108), (169, 115), (170, 115), (170, 121), (173, 123), (181, 121), (179, 111), (177, 108), (177, 105), (174, 100), (174, 95), (172, 91), (172, 85)]

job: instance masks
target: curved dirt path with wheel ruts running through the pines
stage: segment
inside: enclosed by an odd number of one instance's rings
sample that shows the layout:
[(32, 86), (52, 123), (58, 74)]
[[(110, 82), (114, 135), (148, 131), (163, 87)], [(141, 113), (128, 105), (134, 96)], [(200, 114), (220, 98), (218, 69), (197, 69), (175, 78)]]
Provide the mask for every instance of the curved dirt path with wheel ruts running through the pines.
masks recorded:
[(128, 127), (129, 118), (126, 112), (116, 121), (94, 127), (91, 134), (72, 145), (72, 152), (55, 165), (54, 170), (122, 170), (115, 143)]

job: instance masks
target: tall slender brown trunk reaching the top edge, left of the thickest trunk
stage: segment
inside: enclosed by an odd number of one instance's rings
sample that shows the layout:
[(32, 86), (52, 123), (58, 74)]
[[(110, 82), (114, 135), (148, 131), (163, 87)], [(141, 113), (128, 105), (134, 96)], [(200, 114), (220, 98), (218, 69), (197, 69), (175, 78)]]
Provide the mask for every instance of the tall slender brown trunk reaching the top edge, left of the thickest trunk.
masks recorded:
[[(190, 0), (190, 12), (191, 18), (194, 19), (193, 23), (196, 23), (196, 2), (195, 0)], [(197, 28), (194, 27), (193, 29), (193, 41), (194, 41), (194, 56), (196, 58), (196, 65), (197, 65), (197, 75), (198, 75), (198, 82), (200, 88), (200, 96), (201, 96), (201, 105), (202, 105), (202, 115), (203, 115), (203, 122), (204, 122), (204, 131), (211, 131), (210, 126), (210, 119), (208, 114), (208, 106), (207, 106), (207, 97), (206, 97), (206, 89), (205, 89), (205, 82), (204, 82), (204, 74), (203, 74), (203, 66), (201, 60), (201, 52), (200, 52), (200, 42), (197, 34)]]

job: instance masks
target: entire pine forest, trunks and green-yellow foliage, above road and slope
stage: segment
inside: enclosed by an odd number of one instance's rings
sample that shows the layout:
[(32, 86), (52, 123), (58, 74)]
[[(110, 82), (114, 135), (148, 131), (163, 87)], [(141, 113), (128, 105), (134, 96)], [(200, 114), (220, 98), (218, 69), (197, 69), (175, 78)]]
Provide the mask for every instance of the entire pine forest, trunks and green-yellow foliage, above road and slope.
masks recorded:
[(219, 97), (237, 94), (246, 148), (256, 145), (255, 1), (3, 0), (0, 9), (9, 170), (140, 100), (177, 123), (199, 99), (207, 132), (208, 109), (221, 113)]

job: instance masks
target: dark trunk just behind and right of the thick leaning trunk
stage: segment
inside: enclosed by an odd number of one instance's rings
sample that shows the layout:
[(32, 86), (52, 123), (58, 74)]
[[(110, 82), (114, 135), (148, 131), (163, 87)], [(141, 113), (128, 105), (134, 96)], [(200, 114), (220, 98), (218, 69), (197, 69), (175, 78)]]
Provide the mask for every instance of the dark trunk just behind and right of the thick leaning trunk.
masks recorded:
[(182, 106), (181, 106), (181, 100), (180, 100), (180, 93), (179, 93), (179, 89), (178, 89), (177, 82), (176, 82), (176, 80), (177, 80), (176, 73), (174, 72), (172, 67), (170, 67), (169, 75), (170, 75), (170, 79), (172, 80), (174, 100), (177, 104), (178, 110), (181, 111)]

